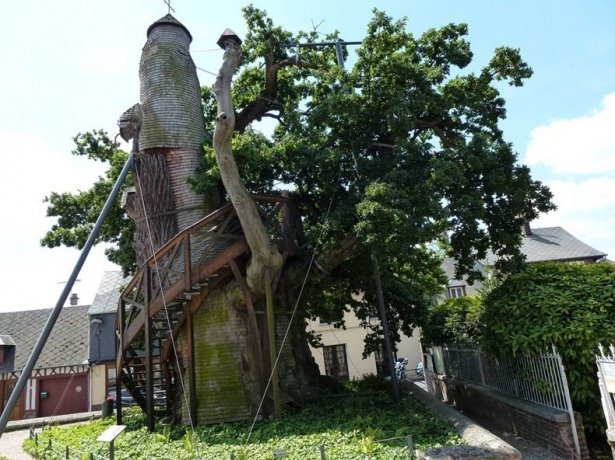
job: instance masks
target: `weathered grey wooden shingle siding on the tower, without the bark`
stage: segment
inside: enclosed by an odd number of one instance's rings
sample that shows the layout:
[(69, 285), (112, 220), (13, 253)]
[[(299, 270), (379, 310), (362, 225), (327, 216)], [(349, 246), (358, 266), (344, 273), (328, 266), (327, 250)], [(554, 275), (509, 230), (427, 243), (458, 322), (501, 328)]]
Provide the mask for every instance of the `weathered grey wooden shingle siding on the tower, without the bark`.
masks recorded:
[(205, 122), (201, 87), (190, 57), (192, 37), (170, 15), (148, 29), (139, 64), (143, 123), (142, 153), (164, 153), (169, 170), (177, 230), (208, 214), (205, 197), (187, 183), (201, 162)]

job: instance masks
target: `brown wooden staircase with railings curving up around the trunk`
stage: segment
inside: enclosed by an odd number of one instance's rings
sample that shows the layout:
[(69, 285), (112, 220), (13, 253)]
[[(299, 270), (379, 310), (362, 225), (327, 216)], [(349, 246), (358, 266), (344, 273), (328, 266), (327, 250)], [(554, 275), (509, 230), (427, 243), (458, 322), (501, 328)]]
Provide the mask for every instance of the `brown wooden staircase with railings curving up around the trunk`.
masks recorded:
[[(270, 237), (284, 251), (289, 245), (284, 243), (287, 238), (283, 236), (279, 211), (288, 198), (253, 199)], [(126, 388), (147, 414), (150, 429), (156, 417), (173, 415), (173, 398), (181, 394), (181, 364), (174, 348), (180, 330), (191, 329), (192, 314), (218, 284), (241, 276), (238, 266), (248, 254), (235, 209), (227, 204), (165, 244), (122, 292), (116, 331), (118, 387)], [(238, 281), (245, 286), (243, 280)], [(192, 350), (188, 352), (187, 360), (193, 360)], [(191, 392), (196, 391), (194, 382), (189, 387)], [(190, 397), (194, 400), (196, 395)], [(120, 424), (120, 397), (117, 404)]]

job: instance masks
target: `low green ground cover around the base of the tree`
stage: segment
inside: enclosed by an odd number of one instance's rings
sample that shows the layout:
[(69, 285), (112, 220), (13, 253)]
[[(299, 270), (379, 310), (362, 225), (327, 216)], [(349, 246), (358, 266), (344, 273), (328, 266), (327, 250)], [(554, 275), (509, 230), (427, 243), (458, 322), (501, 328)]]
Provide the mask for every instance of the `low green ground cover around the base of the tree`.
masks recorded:
[[(372, 382), (373, 384), (373, 382)], [(306, 407), (301, 413), (287, 415), (282, 421), (256, 423), (247, 442), (251, 423), (225, 423), (195, 427), (159, 426), (148, 433), (145, 419), (138, 411), (124, 415), (127, 429), (115, 441), (117, 459), (194, 459), (229, 458), (272, 459), (275, 449), (288, 452), (289, 460), (317, 458), (318, 447), (325, 445), (328, 459), (405, 459), (406, 435), (412, 435), (418, 449), (460, 444), (455, 430), (437, 419), (410, 396), (396, 403), (390, 397), (370, 394), (363, 397), (347, 393), (346, 397), (323, 400)], [(95, 439), (113, 424), (112, 418), (85, 425), (56, 427), (39, 436), (39, 446), (52, 440), (52, 451), (34, 446), (26, 440), (24, 447), (35, 458), (61, 460), (64, 446), (70, 446), (71, 458), (88, 459), (90, 449), (106, 456), (106, 446)], [(380, 442), (389, 438), (401, 438)], [(198, 454), (198, 457), (197, 457)]]

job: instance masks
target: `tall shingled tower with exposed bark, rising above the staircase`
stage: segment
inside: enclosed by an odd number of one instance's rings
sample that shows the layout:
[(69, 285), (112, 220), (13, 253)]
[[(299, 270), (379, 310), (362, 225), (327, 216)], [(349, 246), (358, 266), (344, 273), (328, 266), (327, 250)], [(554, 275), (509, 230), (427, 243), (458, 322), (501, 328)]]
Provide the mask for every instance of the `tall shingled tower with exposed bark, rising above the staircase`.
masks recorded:
[[(219, 195), (195, 193), (195, 174), (205, 141), (205, 121), (196, 67), (190, 57), (192, 35), (167, 14), (147, 29), (139, 64), (141, 102), (120, 118), (124, 139), (134, 139), (137, 181), (125, 207), (137, 226), (135, 248), (141, 264), (177, 232), (214, 210)], [(142, 202), (145, 203), (145, 207)], [(144, 228), (145, 219), (150, 229)]]

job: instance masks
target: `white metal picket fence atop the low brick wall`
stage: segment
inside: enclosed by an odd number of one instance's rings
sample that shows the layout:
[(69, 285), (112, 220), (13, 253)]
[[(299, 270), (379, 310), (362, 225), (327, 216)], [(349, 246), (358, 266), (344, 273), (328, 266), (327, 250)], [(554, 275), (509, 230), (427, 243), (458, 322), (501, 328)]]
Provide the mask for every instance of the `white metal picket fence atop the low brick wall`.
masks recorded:
[(553, 347), (536, 356), (498, 357), (482, 350), (443, 347), (446, 374), (563, 411), (570, 408), (562, 360)]

